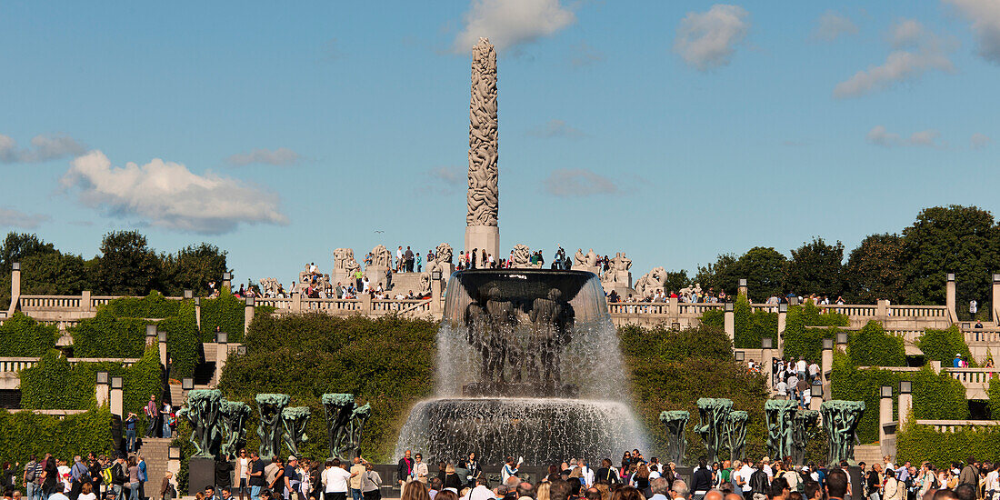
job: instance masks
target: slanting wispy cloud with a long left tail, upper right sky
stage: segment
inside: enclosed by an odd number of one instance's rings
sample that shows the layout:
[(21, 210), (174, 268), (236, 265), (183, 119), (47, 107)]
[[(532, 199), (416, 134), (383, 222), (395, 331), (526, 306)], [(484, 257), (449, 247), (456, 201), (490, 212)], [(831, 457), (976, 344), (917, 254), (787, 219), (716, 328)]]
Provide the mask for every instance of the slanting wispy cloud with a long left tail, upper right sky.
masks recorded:
[(902, 81), (916, 80), (930, 70), (955, 69), (948, 56), (953, 49), (917, 21), (897, 22), (889, 32), (889, 40), (896, 50), (889, 53), (885, 62), (838, 83), (833, 88), (834, 97), (859, 97)]

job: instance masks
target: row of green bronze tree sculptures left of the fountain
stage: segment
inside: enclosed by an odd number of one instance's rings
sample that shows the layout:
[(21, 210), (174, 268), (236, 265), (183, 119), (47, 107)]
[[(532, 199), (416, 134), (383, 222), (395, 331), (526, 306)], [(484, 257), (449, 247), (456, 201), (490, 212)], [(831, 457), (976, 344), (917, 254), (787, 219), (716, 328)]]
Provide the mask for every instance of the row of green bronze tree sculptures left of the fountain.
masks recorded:
[[(306, 425), (311, 411), (307, 406), (288, 407), (287, 394), (257, 394), (254, 397), (260, 424), (258, 452), (272, 457), (281, 452), (282, 444), (292, 455), (299, 454), (299, 445), (308, 441)], [(324, 394), (327, 435), (330, 456), (352, 460), (361, 456), (361, 434), (371, 416), (371, 406), (359, 407), (353, 394)], [(194, 458), (232, 458), (246, 446), (246, 421), (250, 407), (239, 401), (227, 401), (218, 389), (196, 389), (178, 416), (191, 424), (189, 440), (194, 445)]]

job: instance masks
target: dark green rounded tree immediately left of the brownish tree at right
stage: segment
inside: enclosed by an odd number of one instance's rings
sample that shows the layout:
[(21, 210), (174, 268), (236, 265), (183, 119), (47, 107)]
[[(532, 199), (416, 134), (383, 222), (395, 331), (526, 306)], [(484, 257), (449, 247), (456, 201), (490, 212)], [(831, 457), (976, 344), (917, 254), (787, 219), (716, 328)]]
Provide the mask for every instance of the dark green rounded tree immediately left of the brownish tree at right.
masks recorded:
[(785, 265), (785, 289), (799, 294), (840, 295), (841, 266), (844, 244), (829, 245), (823, 238), (813, 238), (792, 250), (792, 258)]

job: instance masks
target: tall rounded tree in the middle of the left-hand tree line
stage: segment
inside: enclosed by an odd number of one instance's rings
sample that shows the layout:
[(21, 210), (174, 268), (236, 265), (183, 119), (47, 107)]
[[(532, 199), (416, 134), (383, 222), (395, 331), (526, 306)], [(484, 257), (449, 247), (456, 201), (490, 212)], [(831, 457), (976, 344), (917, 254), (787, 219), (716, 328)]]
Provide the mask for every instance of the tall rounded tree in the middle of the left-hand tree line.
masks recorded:
[(101, 293), (142, 297), (160, 275), (160, 260), (138, 231), (112, 231), (101, 242), (96, 273)]

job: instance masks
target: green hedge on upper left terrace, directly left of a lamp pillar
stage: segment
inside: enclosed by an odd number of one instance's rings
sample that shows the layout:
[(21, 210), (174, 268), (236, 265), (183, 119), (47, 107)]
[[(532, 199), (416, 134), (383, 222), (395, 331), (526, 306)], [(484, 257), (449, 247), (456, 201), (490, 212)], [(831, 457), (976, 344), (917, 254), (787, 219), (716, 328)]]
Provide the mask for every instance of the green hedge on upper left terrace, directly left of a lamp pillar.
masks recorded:
[[(128, 299), (116, 299), (112, 302)], [(110, 305), (110, 304), (109, 304)], [(138, 358), (146, 346), (147, 321), (120, 317), (113, 307), (104, 307), (93, 318), (70, 328), (73, 355), (78, 358)]]

